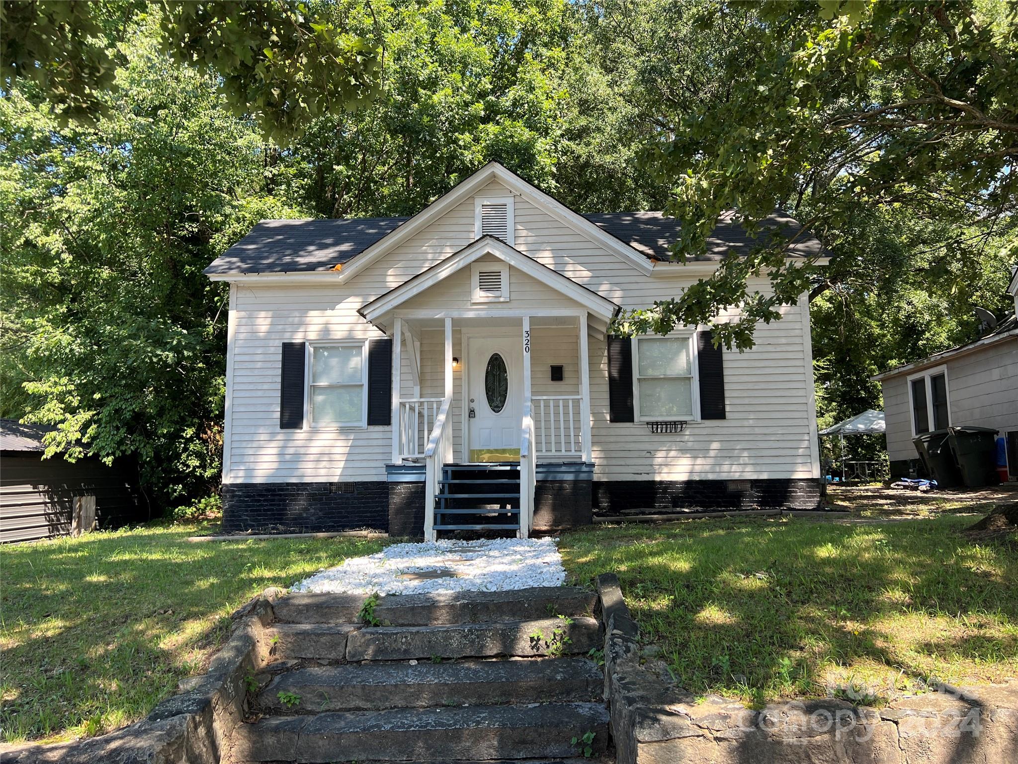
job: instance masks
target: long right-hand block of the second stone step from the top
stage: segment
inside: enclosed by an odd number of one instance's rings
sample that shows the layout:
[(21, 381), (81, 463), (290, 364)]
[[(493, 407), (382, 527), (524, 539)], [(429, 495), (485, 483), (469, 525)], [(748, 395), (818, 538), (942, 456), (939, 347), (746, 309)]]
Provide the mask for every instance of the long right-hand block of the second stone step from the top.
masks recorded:
[[(570, 622), (571, 620), (571, 622)], [(585, 654), (598, 647), (600, 624), (576, 616), (438, 626), (373, 626), (351, 632), (346, 659), (488, 658)]]

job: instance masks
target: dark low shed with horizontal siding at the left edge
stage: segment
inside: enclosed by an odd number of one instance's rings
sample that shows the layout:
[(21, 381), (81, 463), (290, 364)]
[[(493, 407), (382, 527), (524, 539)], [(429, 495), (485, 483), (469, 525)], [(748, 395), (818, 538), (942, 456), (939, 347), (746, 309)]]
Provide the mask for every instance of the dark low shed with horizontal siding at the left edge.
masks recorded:
[(0, 542), (33, 541), (148, 519), (136, 476), (90, 456), (43, 458), (51, 428), (0, 420)]

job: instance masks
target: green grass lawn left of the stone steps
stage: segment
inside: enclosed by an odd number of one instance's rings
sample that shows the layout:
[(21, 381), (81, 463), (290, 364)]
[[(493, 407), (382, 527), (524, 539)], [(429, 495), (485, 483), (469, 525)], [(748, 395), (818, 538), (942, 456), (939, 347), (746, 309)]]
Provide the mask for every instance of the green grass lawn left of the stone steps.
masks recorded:
[(204, 670), (230, 613), (270, 586), (382, 547), (365, 539), (188, 543), (146, 527), (0, 547), (3, 740), (55, 742), (145, 716)]

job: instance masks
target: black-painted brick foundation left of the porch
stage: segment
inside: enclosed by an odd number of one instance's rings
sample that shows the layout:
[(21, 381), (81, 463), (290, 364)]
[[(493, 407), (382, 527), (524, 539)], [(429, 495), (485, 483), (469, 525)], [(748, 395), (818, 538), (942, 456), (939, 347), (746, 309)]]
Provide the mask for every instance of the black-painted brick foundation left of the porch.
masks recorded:
[(320, 533), (389, 528), (389, 488), (367, 483), (227, 483), (223, 531)]

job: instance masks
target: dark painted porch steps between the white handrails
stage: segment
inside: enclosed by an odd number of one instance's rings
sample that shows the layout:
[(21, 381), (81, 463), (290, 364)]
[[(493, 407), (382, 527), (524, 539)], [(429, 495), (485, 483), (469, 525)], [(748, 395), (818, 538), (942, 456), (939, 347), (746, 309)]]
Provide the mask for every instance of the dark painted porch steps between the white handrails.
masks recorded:
[(445, 465), (435, 497), (435, 530), (519, 530), (519, 462)]

